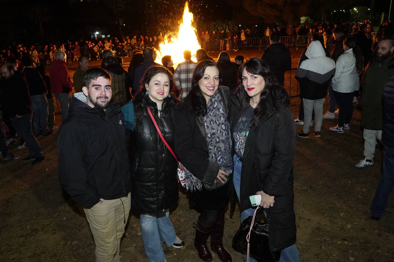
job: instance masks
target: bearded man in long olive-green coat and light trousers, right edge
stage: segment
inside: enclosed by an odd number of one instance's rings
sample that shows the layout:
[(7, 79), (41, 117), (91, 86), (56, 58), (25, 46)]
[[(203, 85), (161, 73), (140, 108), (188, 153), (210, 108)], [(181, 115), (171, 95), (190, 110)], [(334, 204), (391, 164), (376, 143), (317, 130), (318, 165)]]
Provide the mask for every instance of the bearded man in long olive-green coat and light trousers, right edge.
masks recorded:
[(365, 158), (355, 165), (360, 168), (374, 164), (376, 139), (382, 140), (382, 98), (386, 83), (394, 76), (394, 37), (382, 38), (377, 44), (375, 59), (366, 68), (360, 98)]

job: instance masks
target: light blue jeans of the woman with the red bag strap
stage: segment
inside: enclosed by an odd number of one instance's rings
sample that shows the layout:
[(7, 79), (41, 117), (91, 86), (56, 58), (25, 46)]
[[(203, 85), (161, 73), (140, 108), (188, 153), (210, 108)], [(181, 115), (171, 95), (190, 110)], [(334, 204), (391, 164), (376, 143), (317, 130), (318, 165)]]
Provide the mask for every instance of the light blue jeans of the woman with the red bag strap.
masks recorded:
[(141, 233), (145, 253), (151, 262), (164, 262), (165, 255), (162, 244), (171, 247), (175, 240), (175, 230), (168, 218), (169, 212), (160, 217), (141, 214)]

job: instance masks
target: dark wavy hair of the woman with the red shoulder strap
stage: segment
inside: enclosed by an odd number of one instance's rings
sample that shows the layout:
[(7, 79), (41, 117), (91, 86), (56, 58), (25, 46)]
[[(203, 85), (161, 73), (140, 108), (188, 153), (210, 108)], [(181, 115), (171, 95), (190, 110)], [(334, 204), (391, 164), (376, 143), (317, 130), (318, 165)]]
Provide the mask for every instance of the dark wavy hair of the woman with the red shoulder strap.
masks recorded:
[[(173, 105), (177, 105), (180, 102), (179, 97), (177, 97), (174, 94), (174, 91), (176, 89), (176, 85), (174, 83), (173, 74), (164, 66), (152, 66), (151, 68), (149, 68), (145, 72), (145, 75), (142, 77), (140, 85), (139, 85), (139, 91), (136, 93), (136, 95), (134, 96), (134, 99), (133, 99), (136, 124), (142, 125), (142, 119), (144, 116), (144, 109), (145, 109), (145, 103), (146, 103), (145, 95), (147, 94), (145, 84), (149, 84), (149, 82), (151, 82), (151, 80), (152, 80), (152, 77), (154, 77), (158, 73), (164, 73), (165, 75), (168, 76), (169, 84), (170, 84), (169, 94), (171, 95), (171, 97), (169, 97), (169, 99), (168, 99), (169, 103), (171, 103)], [(165, 98), (165, 99), (167, 99), (167, 98)]]

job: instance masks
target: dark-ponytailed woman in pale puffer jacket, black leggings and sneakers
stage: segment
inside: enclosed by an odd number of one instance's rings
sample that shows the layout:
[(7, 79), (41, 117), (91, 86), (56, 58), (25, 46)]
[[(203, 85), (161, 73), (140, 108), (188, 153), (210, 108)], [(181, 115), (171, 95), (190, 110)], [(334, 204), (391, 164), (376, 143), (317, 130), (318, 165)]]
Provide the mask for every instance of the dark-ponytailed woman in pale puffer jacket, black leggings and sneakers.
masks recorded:
[(340, 55), (335, 64), (335, 75), (332, 79), (332, 88), (339, 107), (338, 125), (330, 130), (344, 133), (350, 129), (350, 119), (353, 115), (353, 96), (360, 88), (359, 75), (362, 73), (363, 57), (361, 48), (356, 46), (354, 37), (344, 40), (345, 52)]

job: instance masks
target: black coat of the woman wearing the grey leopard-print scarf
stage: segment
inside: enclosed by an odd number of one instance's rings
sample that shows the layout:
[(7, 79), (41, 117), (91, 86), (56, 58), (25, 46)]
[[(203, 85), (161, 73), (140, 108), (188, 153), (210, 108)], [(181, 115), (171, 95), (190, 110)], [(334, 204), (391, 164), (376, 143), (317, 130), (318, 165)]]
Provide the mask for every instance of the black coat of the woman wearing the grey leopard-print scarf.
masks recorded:
[[(219, 86), (217, 92), (220, 93), (224, 111), (228, 112), (230, 90), (225, 86)], [(213, 184), (219, 165), (210, 161), (208, 144), (206, 142), (206, 132), (203, 117), (197, 117), (191, 109), (191, 93), (186, 96), (184, 103), (175, 113), (177, 125), (175, 126), (175, 154), (179, 161), (188, 169), (191, 174), (199, 178), (202, 182)], [(231, 179), (230, 176), (229, 179)], [(231, 181), (228, 182), (230, 184)], [(216, 191), (193, 191), (191, 198), (201, 208), (223, 209), (227, 205), (227, 195), (229, 186), (226, 185)]]

